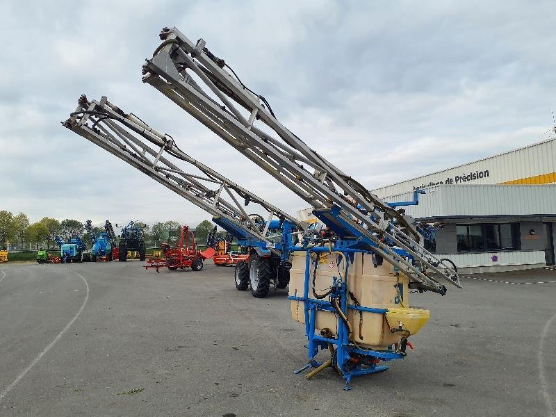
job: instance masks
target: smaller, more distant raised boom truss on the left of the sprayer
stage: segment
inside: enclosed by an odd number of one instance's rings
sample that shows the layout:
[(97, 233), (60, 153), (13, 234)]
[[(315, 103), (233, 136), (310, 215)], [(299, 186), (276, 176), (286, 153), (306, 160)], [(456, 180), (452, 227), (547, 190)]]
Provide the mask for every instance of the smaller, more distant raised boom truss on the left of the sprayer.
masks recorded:
[[(266, 235), (273, 218), (299, 224), (291, 215), (196, 161), (181, 151), (171, 136), (152, 129), (133, 113), (124, 113), (106, 97), (89, 101), (81, 96), (76, 111), (63, 125), (211, 213), (239, 239), (272, 240)], [(199, 173), (188, 173), (177, 163), (186, 163)], [(245, 211), (244, 206), (250, 203), (266, 215), (265, 222), (256, 221), (260, 214)]]

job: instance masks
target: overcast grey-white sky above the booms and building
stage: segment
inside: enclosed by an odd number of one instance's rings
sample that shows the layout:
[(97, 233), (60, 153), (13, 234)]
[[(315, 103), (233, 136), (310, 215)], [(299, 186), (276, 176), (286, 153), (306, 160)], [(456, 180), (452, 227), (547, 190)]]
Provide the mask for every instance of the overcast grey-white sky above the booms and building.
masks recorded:
[(0, 210), (95, 223), (210, 218), (60, 125), (108, 96), (295, 215), (306, 204), (181, 111), (141, 67), (163, 26), (204, 38), (277, 117), (368, 188), (541, 140), (555, 1), (0, 0)]

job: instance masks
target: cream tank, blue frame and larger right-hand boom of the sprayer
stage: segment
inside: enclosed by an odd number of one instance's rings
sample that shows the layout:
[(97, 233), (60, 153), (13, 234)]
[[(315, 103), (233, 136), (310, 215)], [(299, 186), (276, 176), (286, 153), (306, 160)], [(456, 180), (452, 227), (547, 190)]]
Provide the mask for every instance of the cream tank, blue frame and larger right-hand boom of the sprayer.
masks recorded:
[[(143, 82), (304, 199), (327, 227), (281, 251), (291, 262), (292, 316), (308, 340), (303, 370), (314, 368), (307, 377), (330, 366), (349, 389), (352, 377), (386, 370), (382, 363), (404, 357), (408, 338), (430, 316), (409, 306), (409, 290), (444, 295), (443, 282), (461, 288), (453, 264), (420, 245), (410, 219), (281, 124), (204, 40), (191, 42), (177, 28), (160, 38)], [(264, 275), (267, 265), (252, 260), (250, 272)], [(330, 358), (318, 362), (319, 350)]]

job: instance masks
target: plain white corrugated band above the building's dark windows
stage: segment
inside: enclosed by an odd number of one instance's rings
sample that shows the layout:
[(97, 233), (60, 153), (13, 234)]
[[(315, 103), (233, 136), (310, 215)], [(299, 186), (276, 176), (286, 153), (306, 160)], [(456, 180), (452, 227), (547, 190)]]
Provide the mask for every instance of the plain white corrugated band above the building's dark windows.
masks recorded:
[[(406, 206), (416, 219), (489, 215), (555, 215), (556, 185), (434, 186), (420, 195), (418, 206)], [(413, 193), (387, 197), (386, 202), (411, 201)]]

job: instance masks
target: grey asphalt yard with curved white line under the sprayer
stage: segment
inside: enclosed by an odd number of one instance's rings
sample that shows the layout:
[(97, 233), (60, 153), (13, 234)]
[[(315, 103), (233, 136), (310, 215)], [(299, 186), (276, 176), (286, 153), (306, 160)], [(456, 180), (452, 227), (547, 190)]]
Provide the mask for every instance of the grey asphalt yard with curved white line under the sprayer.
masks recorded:
[[(233, 268), (1, 265), (5, 416), (551, 416), (556, 271), (463, 278), (415, 349), (352, 391), (306, 361), (286, 291), (236, 291)], [(536, 284), (525, 284), (527, 282)], [(510, 283), (510, 284), (507, 284)], [(513, 283), (513, 284), (512, 284)], [(519, 285), (516, 285), (519, 284)]]

